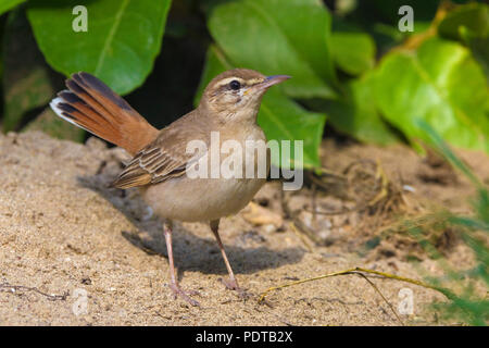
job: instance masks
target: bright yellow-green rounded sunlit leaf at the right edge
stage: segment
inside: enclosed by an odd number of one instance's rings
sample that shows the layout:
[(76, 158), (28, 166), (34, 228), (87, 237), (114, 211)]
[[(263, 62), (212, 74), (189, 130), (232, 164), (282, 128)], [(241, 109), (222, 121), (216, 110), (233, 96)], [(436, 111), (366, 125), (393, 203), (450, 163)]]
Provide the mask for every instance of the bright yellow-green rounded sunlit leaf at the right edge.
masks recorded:
[(489, 151), (489, 95), (480, 66), (463, 46), (431, 38), (415, 52), (385, 57), (375, 82), (384, 116), (409, 138), (426, 139), (426, 121), (454, 146)]

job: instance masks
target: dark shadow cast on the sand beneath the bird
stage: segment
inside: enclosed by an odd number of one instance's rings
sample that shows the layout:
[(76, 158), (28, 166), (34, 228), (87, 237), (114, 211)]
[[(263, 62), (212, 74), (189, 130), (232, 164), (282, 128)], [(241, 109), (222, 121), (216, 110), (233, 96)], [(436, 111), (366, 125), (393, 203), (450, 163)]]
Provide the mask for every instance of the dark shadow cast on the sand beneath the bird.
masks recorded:
[[(131, 195), (129, 200), (123, 190), (109, 188), (111, 179), (112, 177), (109, 178), (103, 173), (95, 176), (78, 177), (78, 182), (83, 187), (101, 195), (133, 222), (137, 231), (134, 233), (122, 231), (124, 238), (148, 254), (167, 258), (161, 220), (155, 216), (150, 220), (143, 220), (141, 219), (141, 213), (135, 214), (135, 210), (139, 212), (147, 211), (147, 204), (139, 195)], [(209, 228), (209, 225), (206, 225), (206, 228)], [(145, 232), (143, 237), (141, 237), (140, 232)], [(224, 233), (223, 231), (222, 234)], [(299, 247), (285, 248), (279, 251), (272, 250), (265, 246), (247, 248), (236, 245), (224, 245), (224, 247), (236, 274), (251, 274), (260, 270), (276, 269), (285, 264), (298, 263), (305, 252), (304, 249)], [(209, 238), (203, 238), (186, 231), (181, 224), (175, 223), (173, 250), (175, 266), (178, 269), (178, 278), (181, 278), (186, 271), (197, 271), (204, 274), (227, 274), (217, 244), (210, 228)]]

